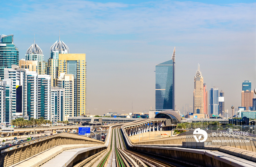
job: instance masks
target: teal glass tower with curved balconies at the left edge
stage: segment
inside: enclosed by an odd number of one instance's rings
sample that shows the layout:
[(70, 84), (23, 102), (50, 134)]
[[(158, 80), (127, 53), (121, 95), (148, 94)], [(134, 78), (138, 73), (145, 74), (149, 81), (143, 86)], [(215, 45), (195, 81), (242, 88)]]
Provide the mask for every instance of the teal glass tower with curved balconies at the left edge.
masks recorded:
[(4, 68), (18, 63), (19, 51), (13, 43), (13, 35), (0, 35), (0, 80), (4, 79)]

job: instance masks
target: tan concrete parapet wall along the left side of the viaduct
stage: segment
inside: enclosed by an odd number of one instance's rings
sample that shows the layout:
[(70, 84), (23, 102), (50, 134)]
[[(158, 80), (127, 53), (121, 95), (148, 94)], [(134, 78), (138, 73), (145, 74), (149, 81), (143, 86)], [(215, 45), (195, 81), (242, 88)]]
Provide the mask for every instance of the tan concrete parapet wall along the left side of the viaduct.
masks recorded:
[(52, 136), (26, 141), (18, 145), (0, 149), (0, 166), (8, 167), (33, 156), (55, 145), (66, 144), (104, 144), (102, 141), (94, 140), (89, 137), (79, 136), (74, 133), (59, 133)]

